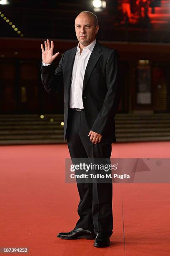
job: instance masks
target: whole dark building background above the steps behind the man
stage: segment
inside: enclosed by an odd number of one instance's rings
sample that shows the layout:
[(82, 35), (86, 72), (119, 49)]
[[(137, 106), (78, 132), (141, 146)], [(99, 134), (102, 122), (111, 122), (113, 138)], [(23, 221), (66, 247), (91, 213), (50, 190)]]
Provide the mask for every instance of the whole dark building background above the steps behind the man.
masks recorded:
[[(170, 1), (150, 1), (144, 17), (136, 2), (129, 2), (131, 18), (123, 14), (121, 0), (107, 0), (100, 12), (93, 10), (91, 0), (9, 0), (9, 5), (0, 5), (0, 113), (63, 113), (63, 89), (58, 95), (47, 95), (40, 81), (40, 44), (47, 38), (54, 40), (54, 51), (61, 53), (57, 66), (62, 53), (77, 46), (74, 20), (82, 10), (97, 15), (97, 40), (119, 51), (124, 81), (119, 112), (169, 113)], [(139, 82), (145, 70), (150, 74), (151, 100), (140, 104)]]

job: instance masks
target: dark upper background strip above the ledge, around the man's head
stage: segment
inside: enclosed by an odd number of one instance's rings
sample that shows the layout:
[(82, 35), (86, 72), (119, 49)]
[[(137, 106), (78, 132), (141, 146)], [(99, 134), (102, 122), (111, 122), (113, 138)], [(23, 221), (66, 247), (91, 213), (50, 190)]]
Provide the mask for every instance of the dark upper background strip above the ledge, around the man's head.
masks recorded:
[[(0, 11), (15, 24), (27, 38), (63, 38), (76, 39), (74, 20), (82, 10), (93, 12), (92, 0), (9, 0), (10, 5), (0, 5)], [(105, 41), (150, 41), (170, 42), (170, 1), (150, 1), (152, 17), (138, 17), (139, 10), (131, 0), (131, 12), (137, 15), (133, 22), (122, 24), (121, 0), (107, 0), (106, 8), (97, 12), (100, 31), (97, 38)], [(162, 3), (161, 3), (162, 2)], [(157, 8), (157, 10), (155, 10)], [(18, 37), (18, 34), (6, 26), (0, 19), (0, 34)]]

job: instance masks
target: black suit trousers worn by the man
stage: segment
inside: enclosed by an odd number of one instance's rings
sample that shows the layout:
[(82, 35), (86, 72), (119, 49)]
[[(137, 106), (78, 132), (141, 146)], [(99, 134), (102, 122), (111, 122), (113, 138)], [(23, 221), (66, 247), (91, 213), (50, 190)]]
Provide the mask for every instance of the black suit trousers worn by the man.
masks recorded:
[[(96, 145), (90, 141), (85, 111), (69, 109), (67, 123), (67, 145), (72, 158), (109, 158), (112, 144)], [(110, 233), (113, 228), (112, 182), (77, 183), (80, 195), (79, 220), (76, 227)], [(110, 233), (111, 234), (111, 233)]]

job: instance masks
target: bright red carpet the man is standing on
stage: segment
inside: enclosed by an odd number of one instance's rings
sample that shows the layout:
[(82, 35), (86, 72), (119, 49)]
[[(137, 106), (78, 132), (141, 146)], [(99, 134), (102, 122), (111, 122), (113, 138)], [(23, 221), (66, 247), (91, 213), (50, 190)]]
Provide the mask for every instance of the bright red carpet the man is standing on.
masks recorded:
[[(169, 148), (170, 142), (115, 143), (112, 157), (170, 158)], [(56, 238), (78, 218), (77, 186), (65, 183), (65, 158), (67, 145), (0, 147), (0, 247), (28, 247), (30, 256), (170, 255), (170, 184), (113, 185), (108, 248)]]

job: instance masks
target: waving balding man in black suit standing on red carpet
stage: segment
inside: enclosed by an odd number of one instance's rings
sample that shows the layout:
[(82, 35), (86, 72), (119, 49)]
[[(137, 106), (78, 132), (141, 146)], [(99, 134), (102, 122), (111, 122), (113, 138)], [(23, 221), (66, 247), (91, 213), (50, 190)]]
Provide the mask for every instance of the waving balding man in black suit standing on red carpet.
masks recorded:
[[(71, 159), (109, 158), (115, 138), (115, 114), (120, 103), (120, 63), (117, 50), (99, 44), (97, 17), (87, 11), (75, 19), (79, 44), (62, 55), (55, 69), (53, 41), (42, 49), (42, 83), (48, 93), (64, 87), (64, 140)], [(80, 219), (75, 228), (59, 233), (63, 239), (94, 239), (94, 246), (110, 245), (112, 183), (77, 183)]]

